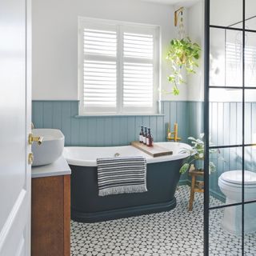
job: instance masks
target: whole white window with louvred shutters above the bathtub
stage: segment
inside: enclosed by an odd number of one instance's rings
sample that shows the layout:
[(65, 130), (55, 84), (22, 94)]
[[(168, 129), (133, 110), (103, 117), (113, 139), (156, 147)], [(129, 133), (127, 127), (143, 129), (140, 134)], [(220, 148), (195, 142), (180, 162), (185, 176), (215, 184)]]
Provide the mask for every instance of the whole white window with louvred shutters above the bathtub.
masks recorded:
[(80, 114), (158, 113), (159, 27), (79, 18)]

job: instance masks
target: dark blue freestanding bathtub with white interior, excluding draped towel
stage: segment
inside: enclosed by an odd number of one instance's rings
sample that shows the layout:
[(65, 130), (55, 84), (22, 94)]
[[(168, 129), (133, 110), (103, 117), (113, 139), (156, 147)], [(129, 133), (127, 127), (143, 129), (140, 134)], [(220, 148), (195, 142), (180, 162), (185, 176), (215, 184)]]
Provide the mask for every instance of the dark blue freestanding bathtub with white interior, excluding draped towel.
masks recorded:
[[(179, 151), (190, 146), (178, 142), (155, 144), (172, 150), (173, 154), (152, 158), (134, 146), (65, 147), (63, 154), (72, 170), (71, 218), (77, 222), (101, 222), (173, 209), (179, 169), (189, 155)], [(147, 192), (98, 196), (96, 159), (114, 157), (117, 153), (120, 157), (145, 156)]]

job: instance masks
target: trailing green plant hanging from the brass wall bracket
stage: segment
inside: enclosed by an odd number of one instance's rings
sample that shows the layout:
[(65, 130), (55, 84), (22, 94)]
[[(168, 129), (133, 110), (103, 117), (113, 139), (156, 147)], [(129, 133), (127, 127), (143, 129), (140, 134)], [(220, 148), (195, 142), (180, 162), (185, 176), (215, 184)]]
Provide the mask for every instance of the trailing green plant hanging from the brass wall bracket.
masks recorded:
[(171, 74), (168, 81), (173, 84), (172, 94), (178, 95), (178, 85), (186, 83), (182, 77), (182, 70), (187, 74), (195, 74), (198, 67), (201, 47), (191, 42), (190, 38), (173, 39), (166, 59), (170, 61)]

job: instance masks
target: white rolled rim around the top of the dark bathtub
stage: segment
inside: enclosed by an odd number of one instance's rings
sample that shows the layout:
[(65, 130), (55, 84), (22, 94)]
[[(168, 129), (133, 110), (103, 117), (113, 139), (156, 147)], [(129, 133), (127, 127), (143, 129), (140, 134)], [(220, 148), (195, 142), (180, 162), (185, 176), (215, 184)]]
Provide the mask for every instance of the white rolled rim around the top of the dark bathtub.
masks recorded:
[[(155, 142), (156, 145), (161, 145), (161, 144), (178, 144), (180, 146), (180, 149), (186, 147), (186, 148), (191, 148), (189, 144), (183, 143), (183, 142)], [(126, 145), (126, 146), (65, 146), (63, 150), (63, 157), (66, 158), (66, 161), (68, 162), (69, 165), (72, 166), (97, 166), (96, 158), (94, 160), (86, 160), (86, 159), (81, 159), (81, 158), (69, 158), (67, 150), (69, 149), (81, 149), (81, 148), (96, 148), (96, 149), (101, 149), (104, 148), (105, 150), (107, 148), (119, 148), (119, 147), (130, 147), (133, 148), (134, 150), (137, 150), (134, 146), (131, 145)], [(141, 151), (142, 156), (146, 158), (146, 163), (156, 163), (156, 162), (169, 162), (169, 161), (175, 161), (179, 159), (185, 159), (190, 156), (190, 154), (186, 153), (179, 153), (179, 154), (171, 154), (167, 156), (161, 156), (157, 158), (151, 157), (149, 154), (146, 154)], [(82, 157), (82, 156), (79, 156)]]

